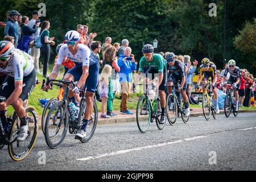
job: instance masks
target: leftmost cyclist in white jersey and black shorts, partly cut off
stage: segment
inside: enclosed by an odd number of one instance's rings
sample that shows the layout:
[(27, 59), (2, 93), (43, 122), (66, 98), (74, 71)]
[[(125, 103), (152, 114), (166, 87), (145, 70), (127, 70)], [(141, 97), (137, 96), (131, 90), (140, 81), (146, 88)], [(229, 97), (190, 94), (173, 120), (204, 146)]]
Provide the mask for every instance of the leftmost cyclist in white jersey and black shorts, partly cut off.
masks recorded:
[(36, 84), (34, 59), (26, 52), (15, 49), (9, 41), (0, 42), (0, 72), (7, 76), (0, 88), (0, 96), (6, 97), (0, 103), (0, 110), (6, 110), (13, 105), (20, 118), (20, 128), (17, 140), (24, 141), (28, 136), (28, 123), (23, 101), (28, 98)]

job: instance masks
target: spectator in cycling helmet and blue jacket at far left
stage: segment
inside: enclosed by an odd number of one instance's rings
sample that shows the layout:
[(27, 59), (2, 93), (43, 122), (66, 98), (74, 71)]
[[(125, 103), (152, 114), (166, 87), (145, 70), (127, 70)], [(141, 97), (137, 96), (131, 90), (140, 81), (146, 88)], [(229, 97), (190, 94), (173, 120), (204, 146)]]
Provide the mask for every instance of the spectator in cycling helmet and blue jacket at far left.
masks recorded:
[(9, 14), (10, 18), (7, 19), (4, 34), (5, 36), (13, 36), (14, 46), (17, 47), (19, 39), (18, 18), (20, 14), (16, 10), (9, 11)]

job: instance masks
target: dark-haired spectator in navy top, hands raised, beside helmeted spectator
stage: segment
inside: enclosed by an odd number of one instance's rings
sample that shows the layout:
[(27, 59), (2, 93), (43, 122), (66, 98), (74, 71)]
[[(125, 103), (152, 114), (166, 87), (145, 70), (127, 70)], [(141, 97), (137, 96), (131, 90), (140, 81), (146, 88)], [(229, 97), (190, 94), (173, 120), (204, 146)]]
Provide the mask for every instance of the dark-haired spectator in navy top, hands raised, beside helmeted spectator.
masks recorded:
[(22, 17), (22, 40), (19, 42), (18, 44), (18, 49), (27, 52), (28, 53), (28, 49), (29, 49), (29, 43), (31, 42), (31, 40), (33, 39), (32, 34), (35, 34), (38, 31), (38, 27), (40, 23), (36, 23), (34, 24), (34, 26), (32, 28), (30, 28), (28, 26), (28, 17), (27, 16), (23, 16)]

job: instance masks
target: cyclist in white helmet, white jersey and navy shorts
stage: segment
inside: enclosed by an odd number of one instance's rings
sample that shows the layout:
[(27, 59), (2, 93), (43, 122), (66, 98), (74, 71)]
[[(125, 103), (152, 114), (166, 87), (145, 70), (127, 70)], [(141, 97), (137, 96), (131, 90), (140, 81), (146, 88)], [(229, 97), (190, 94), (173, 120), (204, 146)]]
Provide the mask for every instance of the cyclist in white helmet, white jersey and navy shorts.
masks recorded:
[[(68, 59), (72, 60), (76, 65), (70, 69), (64, 80), (66, 81), (79, 81), (77, 82), (76, 87), (73, 89), (73, 93), (69, 93), (69, 97), (72, 98), (73, 94), (78, 96), (79, 89), (82, 85), (85, 84), (85, 81), (89, 75), (89, 58), (90, 58), (90, 49), (84, 44), (79, 44), (81, 35), (77, 31), (68, 31), (65, 35), (65, 40), (67, 40), (64, 46), (61, 46), (59, 51), (59, 58), (56, 60), (56, 65), (53, 67), (52, 73), (49, 76), (50, 79), (55, 79), (59, 73), (62, 61), (64, 56), (67, 56)], [(45, 85), (47, 88), (50, 88), (50, 85)], [(77, 97), (76, 97), (77, 98)], [(84, 138), (86, 137), (85, 130), (90, 119), (91, 107), (86, 107), (85, 111), (85, 121), (82, 129), (76, 134), (76, 137)]]

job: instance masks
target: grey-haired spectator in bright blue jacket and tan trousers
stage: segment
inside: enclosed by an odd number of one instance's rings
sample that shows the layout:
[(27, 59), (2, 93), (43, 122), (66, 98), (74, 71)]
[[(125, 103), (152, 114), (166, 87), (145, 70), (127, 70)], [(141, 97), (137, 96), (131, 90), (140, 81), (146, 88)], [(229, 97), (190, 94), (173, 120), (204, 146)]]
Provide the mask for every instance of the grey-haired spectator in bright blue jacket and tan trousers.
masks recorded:
[(133, 78), (133, 71), (136, 70), (136, 64), (134, 57), (131, 57), (131, 48), (126, 47), (124, 55), (121, 55), (118, 59), (118, 66), (120, 67), (120, 84), (121, 84), (121, 114), (134, 114), (127, 107), (127, 101), (129, 99), (129, 93), (131, 89), (131, 80)]

